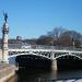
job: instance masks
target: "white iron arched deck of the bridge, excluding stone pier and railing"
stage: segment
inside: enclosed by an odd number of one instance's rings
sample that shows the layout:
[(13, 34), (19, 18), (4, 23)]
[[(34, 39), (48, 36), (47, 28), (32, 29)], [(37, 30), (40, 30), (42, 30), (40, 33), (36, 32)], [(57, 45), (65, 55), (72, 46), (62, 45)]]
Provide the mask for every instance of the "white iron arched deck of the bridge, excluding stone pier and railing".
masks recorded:
[(57, 59), (60, 57), (66, 56), (73, 56), (78, 59), (82, 59), (82, 50), (74, 50), (74, 49), (55, 49), (55, 48), (16, 48), (16, 49), (9, 49), (9, 58), (16, 57), (16, 56), (23, 56), (23, 55), (32, 55), (32, 56), (38, 56), (47, 59)]

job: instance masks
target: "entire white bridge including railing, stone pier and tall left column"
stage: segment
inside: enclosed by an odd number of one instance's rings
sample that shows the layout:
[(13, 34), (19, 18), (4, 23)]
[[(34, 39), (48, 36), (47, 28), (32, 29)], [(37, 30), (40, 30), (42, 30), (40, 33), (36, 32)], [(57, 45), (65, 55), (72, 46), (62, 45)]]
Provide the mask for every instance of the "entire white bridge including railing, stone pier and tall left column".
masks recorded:
[(51, 60), (51, 69), (57, 70), (57, 59), (62, 57), (73, 57), (79, 60), (82, 60), (82, 49), (78, 48), (66, 48), (66, 47), (57, 47), (57, 46), (40, 46), (40, 45), (32, 45), (31, 48), (9, 48), (8, 47), (8, 33), (9, 25), (8, 22), (4, 21), (2, 27), (2, 49), (0, 50), (0, 61), (9, 62), (9, 58), (17, 57), (17, 56), (36, 56), (44, 59)]

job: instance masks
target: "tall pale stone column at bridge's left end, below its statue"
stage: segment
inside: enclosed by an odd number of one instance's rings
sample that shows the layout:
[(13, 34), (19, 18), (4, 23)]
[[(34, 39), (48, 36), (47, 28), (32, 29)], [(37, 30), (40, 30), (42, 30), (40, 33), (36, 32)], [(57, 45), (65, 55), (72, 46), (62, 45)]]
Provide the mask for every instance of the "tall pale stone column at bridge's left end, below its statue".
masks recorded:
[(9, 62), (8, 33), (9, 33), (9, 26), (8, 26), (8, 23), (4, 22), (2, 27), (2, 61), (3, 62)]

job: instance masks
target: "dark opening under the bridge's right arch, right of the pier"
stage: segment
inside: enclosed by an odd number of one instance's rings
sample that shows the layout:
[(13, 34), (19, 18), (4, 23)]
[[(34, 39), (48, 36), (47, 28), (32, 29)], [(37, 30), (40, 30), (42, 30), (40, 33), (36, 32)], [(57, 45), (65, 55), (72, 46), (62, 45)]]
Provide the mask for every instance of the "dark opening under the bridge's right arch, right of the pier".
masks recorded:
[(67, 54), (56, 57), (58, 70), (82, 69), (82, 58), (77, 55)]

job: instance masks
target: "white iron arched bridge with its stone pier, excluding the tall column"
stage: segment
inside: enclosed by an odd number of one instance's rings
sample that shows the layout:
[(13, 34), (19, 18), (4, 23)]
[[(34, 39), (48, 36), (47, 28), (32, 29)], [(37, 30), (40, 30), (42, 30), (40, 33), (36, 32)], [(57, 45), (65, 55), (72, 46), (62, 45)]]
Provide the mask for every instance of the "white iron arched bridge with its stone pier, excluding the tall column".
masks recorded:
[[(38, 47), (40, 47), (38, 45)], [(66, 47), (63, 48), (54, 48), (55, 46), (49, 46), (47, 48), (47, 46), (42, 46), (40, 48), (35, 47), (35, 48), (28, 48), (28, 49), (24, 49), (24, 48), (16, 48), (16, 49), (9, 49), (9, 57), (8, 58), (12, 58), (12, 57), (17, 57), (17, 56), (36, 56), (36, 57), (40, 57), (40, 58), (45, 58), (45, 59), (49, 59), (51, 60), (51, 68), (52, 70), (57, 70), (57, 59), (59, 58), (65, 58), (65, 57), (73, 57), (77, 58), (79, 60), (82, 60), (82, 51), (81, 49), (67, 49)]]

